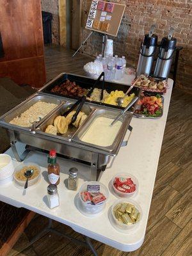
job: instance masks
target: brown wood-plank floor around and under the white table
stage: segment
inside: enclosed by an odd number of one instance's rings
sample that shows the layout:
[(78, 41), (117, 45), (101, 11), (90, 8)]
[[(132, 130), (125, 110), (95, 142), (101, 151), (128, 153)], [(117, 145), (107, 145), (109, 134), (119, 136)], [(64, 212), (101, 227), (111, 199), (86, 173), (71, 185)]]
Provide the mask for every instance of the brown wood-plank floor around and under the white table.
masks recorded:
[[(61, 72), (82, 74), (82, 66), (90, 60), (78, 55), (75, 60), (72, 52), (54, 47), (45, 48), (47, 79)], [(192, 82), (192, 81), (191, 81)], [(173, 90), (168, 122), (164, 132), (163, 147), (159, 160), (156, 184), (147, 234), (140, 250), (131, 253), (120, 252), (110, 246), (93, 241), (97, 252), (102, 256), (189, 256), (192, 255), (191, 240), (191, 171), (192, 171), (192, 99), (191, 95), (175, 88)], [(93, 220), (94, 221), (94, 220)], [(29, 246), (29, 239), (43, 228), (47, 220), (37, 215), (31, 221), (9, 255), (29, 256), (91, 256), (89, 250), (70, 243), (56, 235), (44, 237)], [(83, 239), (71, 228), (54, 222), (61, 232)]]

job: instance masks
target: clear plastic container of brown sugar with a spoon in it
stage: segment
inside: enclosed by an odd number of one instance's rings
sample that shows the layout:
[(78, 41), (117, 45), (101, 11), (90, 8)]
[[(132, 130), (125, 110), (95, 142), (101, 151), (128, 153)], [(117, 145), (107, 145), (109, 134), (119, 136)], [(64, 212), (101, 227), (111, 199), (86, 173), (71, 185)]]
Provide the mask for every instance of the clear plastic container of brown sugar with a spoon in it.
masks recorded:
[(40, 177), (41, 177), (41, 170), (40, 170), (40, 166), (38, 166), (38, 164), (35, 164), (35, 163), (22, 163), (22, 164), (19, 164), (19, 166), (17, 166), (15, 168), (15, 172), (13, 173), (13, 177), (14, 177), (15, 181), (17, 182), (17, 184), (19, 184), (20, 186), (24, 187), (24, 185), (26, 183), (26, 180), (19, 180), (19, 179), (17, 179), (16, 174), (18, 172), (20, 172), (20, 170), (22, 168), (24, 168), (26, 166), (31, 166), (31, 165), (35, 166), (38, 169), (39, 173), (38, 173), (38, 175), (34, 179), (33, 179), (33, 176), (32, 176), (32, 179), (28, 180), (28, 187), (33, 186), (34, 184), (36, 184), (36, 182), (38, 182), (38, 180), (40, 179)]

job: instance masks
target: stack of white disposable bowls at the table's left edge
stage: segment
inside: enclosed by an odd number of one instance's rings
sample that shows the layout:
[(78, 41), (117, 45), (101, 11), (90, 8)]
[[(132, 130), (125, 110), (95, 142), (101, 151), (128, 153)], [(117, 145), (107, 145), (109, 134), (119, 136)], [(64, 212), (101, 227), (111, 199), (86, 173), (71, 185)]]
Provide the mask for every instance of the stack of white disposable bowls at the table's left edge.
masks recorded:
[(13, 172), (12, 157), (6, 154), (0, 154), (0, 185), (12, 182)]

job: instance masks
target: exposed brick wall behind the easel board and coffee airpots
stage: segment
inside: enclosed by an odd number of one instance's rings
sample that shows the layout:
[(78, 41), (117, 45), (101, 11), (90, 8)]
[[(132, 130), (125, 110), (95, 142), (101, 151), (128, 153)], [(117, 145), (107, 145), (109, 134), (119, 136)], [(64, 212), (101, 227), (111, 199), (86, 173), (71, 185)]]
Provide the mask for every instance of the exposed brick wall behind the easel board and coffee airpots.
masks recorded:
[[(111, 37), (115, 44), (115, 53), (125, 55), (128, 65), (136, 67), (138, 52), (143, 35), (148, 33), (151, 24), (156, 23), (159, 40), (166, 36), (170, 26), (175, 28), (174, 36), (177, 45), (184, 47), (179, 56), (177, 86), (192, 93), (192, 1), (191, 0), (113, 0), (115, 3), (126, 4), (125, 14), (116, 38)], [(83, 0), (81, 37), (88, 33), (84, 29), (91, 0)], [(94, 33), (85, 45), (86, 54), (96, 55), (102, 49), (102, 36)]]

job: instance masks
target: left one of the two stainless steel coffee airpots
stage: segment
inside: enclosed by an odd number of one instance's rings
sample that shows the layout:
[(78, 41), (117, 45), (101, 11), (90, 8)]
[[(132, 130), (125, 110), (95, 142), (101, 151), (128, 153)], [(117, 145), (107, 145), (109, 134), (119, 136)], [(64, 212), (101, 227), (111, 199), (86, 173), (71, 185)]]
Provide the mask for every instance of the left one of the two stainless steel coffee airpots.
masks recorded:
[(141, 44), (140, 58), (138, 61), (136, 76), (140, 76), (141, 74), (149, 76), (151, 74), (158, 39), (157, 35), (154, 34), (155, 28), (155, 25), (151, 26), (150, 32), (145, 35)]

